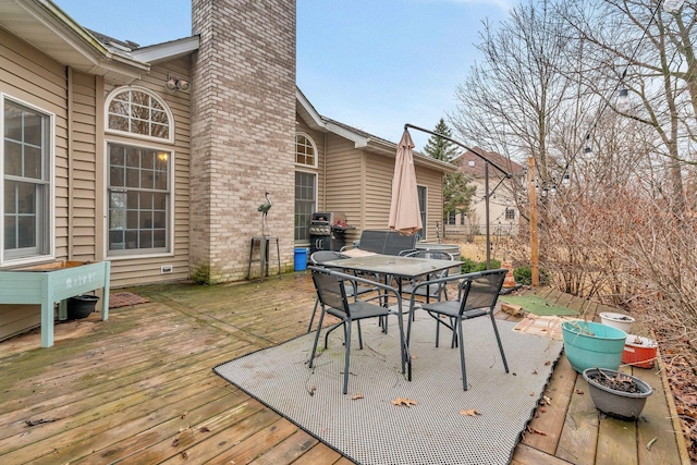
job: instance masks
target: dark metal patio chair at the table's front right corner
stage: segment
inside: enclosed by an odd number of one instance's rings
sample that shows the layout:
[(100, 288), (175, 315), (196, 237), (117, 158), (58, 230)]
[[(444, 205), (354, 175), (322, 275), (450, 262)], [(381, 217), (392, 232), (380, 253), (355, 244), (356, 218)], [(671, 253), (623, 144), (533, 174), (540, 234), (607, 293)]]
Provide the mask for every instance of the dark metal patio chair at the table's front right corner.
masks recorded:
[[(465, 344), (462, 331), (462, 322), (464, 320), (489, 316), (493, 333), (499, 344), (499, 352), (503, 360), (505, 372), (509, 372), (509, 364), (503, 353), (503, 345), (499, 336), (499, 328), (497, 327), (493, 311), (499, 299), (499, 292), (503, 285), (503, 280), (509, 270), (501, 268), (498, 270), (479, 271), (467, 274), (456, 274), (447, 278), (439, 278), (431, 281), (418, 283), (414, 287), (411, 305), (414, 306), (414, 296), (420, 287), (427, 285), (448, 285), (449, 283), (458, 282), (457, 298), (452, 301), (440, 301), (433, 303), (421, 304), (421, 308), (436, 319), (436, 346), (438, 347), (440, 339), (440, 327), (445, 326), (452, 331), (451, 347), (460, 346), (460, 366), (462, 369), (462, 387), (467, 390), (467, 371), (465, 369)], [(445, 319), (441, 316), (447, 317)], [(407, 344), (412, 330), (412, 320), (407, 327)]]

